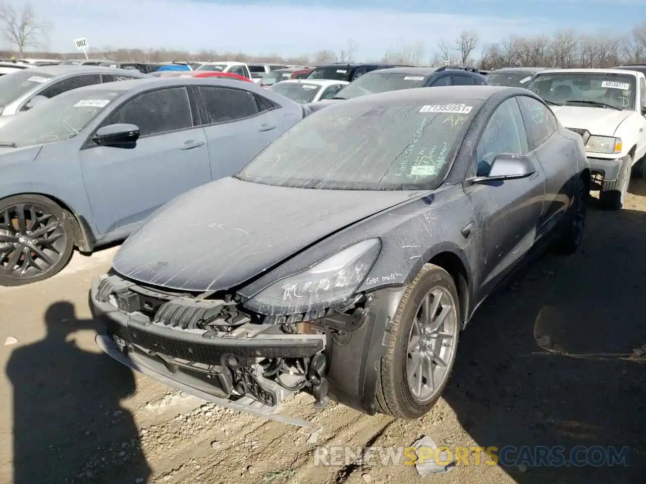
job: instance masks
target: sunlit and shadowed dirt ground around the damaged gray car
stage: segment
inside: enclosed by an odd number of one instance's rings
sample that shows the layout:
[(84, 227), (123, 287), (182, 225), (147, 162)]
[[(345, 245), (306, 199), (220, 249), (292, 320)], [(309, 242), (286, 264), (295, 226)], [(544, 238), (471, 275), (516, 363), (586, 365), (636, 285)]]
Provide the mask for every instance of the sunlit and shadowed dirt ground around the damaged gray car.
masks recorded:
[[(452, 379), (416, 421), (309, 396), (293, 427), (207, 405), (133, 375), (94, 343), (87, 289), (115, 248), (65, 272), (0, 288), (0, 481), (35, 483), (636, 483), (646, 465), (646, 182), (627, 207), (591, 207), (578, 254), (546, 255), (479, 310)], [(644, 298), (644, 299), (642, 299)], [(315, 465), (321, 445), (630, 447), (630, 467)], [(474, 461), (472, 460), (472, 463)]]

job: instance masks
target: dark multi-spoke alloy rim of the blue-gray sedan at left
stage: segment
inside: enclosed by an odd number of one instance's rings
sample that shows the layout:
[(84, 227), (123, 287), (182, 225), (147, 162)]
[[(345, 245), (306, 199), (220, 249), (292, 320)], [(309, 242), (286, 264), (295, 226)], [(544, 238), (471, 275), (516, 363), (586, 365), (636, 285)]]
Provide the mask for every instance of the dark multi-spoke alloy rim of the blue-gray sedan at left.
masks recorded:
[(42, 276), (61, 259), (68, 234), (48, 208), (17, 203), (0, 208), (0, 274), (13, 279)]

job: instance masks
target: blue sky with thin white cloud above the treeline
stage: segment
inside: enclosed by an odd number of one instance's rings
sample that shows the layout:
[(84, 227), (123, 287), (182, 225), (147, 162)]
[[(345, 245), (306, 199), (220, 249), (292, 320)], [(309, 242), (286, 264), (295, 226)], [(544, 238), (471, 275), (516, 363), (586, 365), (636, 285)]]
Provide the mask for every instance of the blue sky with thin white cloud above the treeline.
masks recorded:
[[(22, 1), (15, 0), (14, 5)], [(646, 0), (30, 0), (53, 28), (48, 47), (73, 51), (86, 37), (96, 48), (164, 47), (198, 52), (283, 55), (339, 52), (352, 39), (355, 58), (422, 42), (453, 43), (462, 30), (481, 41), (508, 35), (628, 34), (646, 19)], [(253, 5), (253, 4), (258, 5)], [(352, 6), (350, 10), (349, 6)], [(613, 19), (614, 22), (608, 22)]]

